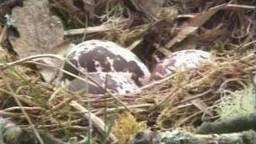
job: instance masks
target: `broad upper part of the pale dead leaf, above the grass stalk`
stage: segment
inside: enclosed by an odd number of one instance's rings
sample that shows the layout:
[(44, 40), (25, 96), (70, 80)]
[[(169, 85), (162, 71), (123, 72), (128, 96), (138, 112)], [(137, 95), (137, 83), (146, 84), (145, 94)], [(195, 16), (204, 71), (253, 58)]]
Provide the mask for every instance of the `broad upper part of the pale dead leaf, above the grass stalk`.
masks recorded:
[(26, 0), (23, 7), (13, 9), (12, 17), (20, 35), (12, 44), (20, 57), (50, 53), (63, 41), (63, 25), (50, 15), (47, 0)]

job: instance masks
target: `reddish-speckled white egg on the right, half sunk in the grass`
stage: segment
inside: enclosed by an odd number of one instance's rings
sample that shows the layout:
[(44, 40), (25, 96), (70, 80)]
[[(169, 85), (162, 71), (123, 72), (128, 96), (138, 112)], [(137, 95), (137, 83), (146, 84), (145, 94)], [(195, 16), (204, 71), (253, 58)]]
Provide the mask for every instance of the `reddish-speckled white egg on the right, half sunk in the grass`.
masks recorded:
[(154, 66), (153, 79), (162, 79), (177, 70), (193, 70), (202, 63), (210, 62), (211, 54), (202, 50), (181, 50), (173, 52)]

